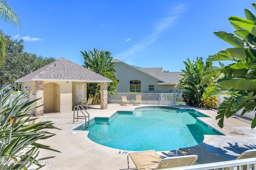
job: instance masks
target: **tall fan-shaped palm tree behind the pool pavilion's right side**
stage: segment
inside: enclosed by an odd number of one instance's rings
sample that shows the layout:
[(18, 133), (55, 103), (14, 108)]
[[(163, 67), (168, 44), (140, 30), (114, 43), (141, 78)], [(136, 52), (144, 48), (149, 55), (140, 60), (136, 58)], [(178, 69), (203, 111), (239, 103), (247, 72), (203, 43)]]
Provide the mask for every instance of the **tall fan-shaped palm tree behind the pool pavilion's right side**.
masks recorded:
[[(109, 51), (98, 51), (94, 48), (94, 53), (92, 51), (84, 53), (84, 67), (96, 72), (106, 78), (109, 78), (113, 82), (108, 83), (108, 95), (117, 94), (116, 86), (118, 85), (118, 80), (116, 77), (116, 70), (114, 69), (114, 63), (112, 63), (113, 57)], [(94, 104), (100, 102), (100, 84), (99, 83), (88, 83), (87, 93), (89, 97), (94, 98)]]

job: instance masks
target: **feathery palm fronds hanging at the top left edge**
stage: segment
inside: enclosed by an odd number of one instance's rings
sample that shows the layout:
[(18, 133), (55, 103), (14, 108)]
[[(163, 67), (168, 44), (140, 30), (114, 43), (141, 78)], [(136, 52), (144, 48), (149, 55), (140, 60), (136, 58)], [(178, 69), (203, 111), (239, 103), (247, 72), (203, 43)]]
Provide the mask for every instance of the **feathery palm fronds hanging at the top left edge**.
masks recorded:
[[(1, 20), (10, 23), (18, 28), (21, 28), (21, 23), (18, 15), (10, 6), (6, 0), (0, 0), (0, 18)], [(4, 35), (0, 33), (0, 66), (2, 60), (4, 60), (6, 55), (6, 41)]]

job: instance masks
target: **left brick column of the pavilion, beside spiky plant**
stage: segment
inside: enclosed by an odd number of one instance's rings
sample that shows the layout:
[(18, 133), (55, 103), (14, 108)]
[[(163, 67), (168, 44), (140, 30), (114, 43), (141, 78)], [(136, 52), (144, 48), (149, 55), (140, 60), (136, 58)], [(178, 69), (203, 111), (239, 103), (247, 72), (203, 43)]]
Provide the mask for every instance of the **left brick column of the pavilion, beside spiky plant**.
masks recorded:
[[(36, 101), (35, 107), (44, 104), (44, 81), (35, 81), (35, 99), (41, 98)], [(36, 117), (44, 115), (44, 106), (38, 107), (34, 110)]]

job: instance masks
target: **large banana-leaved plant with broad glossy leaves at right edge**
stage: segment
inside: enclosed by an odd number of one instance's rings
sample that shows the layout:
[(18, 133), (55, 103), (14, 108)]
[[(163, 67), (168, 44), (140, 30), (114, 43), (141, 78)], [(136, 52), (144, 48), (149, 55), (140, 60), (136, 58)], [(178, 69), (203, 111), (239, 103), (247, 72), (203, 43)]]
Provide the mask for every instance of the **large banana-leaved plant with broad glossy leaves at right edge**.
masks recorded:
[[(240, 109), (243, 109), (243, 115), (248, 111), (254, 111), (256, 107), (256, 15), (249, 9), (245, 9), (244, 13), (246, 19), (238, 16), (228, 18), (236, 29), (235, 35), (224, 31), (214, 32), (234, 48), (219, 51), (207, 59), (207, 61), (219, 61), (219, 63), (220, 61), (233, 61), (234, 63), (227, 66), (220, 63), (221, 67), (215, 66), (206, 72), (201, 82), (203, 85), (212, 76), (220, 74), (217, 84), (208, 87), (204, 98), (232, 93), (230, 98), (224, 98), (224, 102), (220, 104), (216, 116), (216, 119), (219, 119), (219, 127), (223, 127), (224, 117), (228, 118)], [(251, 127), (256, 127), (255, 117)]]

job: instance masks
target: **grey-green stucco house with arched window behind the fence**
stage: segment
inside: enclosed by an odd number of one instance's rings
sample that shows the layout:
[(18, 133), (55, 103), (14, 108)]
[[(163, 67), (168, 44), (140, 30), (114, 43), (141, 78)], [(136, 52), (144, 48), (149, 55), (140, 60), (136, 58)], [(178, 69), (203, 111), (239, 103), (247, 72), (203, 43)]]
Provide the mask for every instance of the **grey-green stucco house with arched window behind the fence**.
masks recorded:
[(118, 59), (113, 59), (116, 76), (119, 81), (117, 91), (120, 93), (178, 93), (174, 88), (183, 77), (183, 72), (163, 72), (163, 68), (136, 68)]

